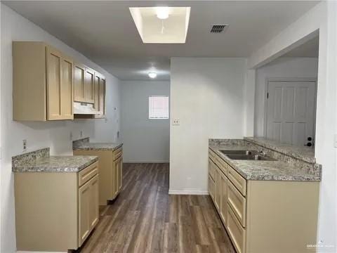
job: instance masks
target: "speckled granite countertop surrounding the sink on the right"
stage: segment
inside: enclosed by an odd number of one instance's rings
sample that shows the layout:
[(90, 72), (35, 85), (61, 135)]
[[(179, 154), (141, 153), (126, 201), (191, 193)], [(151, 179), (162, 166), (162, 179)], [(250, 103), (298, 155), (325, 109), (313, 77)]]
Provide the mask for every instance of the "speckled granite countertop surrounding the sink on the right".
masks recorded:
[(321, 181), (320, 174), (310, 174), (283, 161), (230, 160), (220, 150), (256, 150), (253, 145), (229, 143), (209, 145), (209, 148), (230, 164), (246, 180)]

